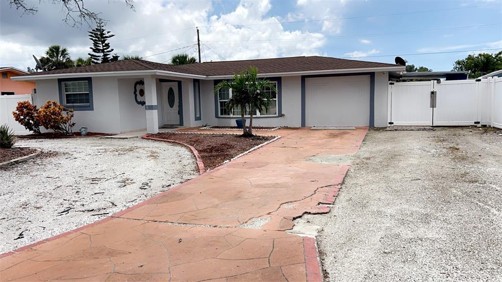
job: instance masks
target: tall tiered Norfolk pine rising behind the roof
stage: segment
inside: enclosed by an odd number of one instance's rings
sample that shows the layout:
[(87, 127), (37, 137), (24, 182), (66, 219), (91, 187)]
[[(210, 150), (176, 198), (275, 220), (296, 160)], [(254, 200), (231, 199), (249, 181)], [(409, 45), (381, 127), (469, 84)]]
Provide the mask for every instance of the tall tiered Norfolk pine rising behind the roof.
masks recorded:
[[(98, 20), (96, 27), (88, 32), (89, 39), (92, 41), (92, 47), (90, 48), (92, 53), (88, 55), (91, 57), (93, 64), (108, 63), (112, 61), (110, 54), (113, 52), (113, 49), (110, 48), (110, 44), (106, 41), (115, 35), (106, 31), (104, 26), (103, 21)], [(118, 60), (118, 56), (113, 56), (113, 59), (114, 61)]]

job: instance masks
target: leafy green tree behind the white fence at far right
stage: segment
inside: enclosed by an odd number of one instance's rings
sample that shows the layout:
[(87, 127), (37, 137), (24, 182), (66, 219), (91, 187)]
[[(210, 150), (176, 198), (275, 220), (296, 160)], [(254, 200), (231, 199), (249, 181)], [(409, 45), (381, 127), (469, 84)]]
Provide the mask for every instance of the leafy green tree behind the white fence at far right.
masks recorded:
[(455, 61), (452, 71), (470, 71), (470, 78), (478, 78), (500, 69), (502, 69), (502, 51), (496, 54), (468, 55), (465, 59)]

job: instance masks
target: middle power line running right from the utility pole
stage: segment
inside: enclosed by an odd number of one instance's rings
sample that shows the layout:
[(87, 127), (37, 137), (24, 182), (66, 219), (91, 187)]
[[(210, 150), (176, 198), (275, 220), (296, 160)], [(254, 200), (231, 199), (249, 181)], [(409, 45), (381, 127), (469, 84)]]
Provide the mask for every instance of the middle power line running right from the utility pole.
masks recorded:
[(328, 37), (304, 37), (304, 38), (287, 38), (287, 39), (256, 39), (256, 40), (225, 40), (225, 41), (204, 41), (215, 44), (223, 44), (225, 42), (266, 42), (266, 41), (301, 41), (301, 40), (324, 40), (324, 39), (335, 39), (335, 38), (350, 38), (350, 37), (372, 37), (372, 36), (387, 36), (387, 35), (397, 35), (397, 34), (410, 34), (410, 33), (422, 33), (422, 32), (433, 32), (433, 31), (450, 31), (450, 30), (462, 30), (462, 29), (472, 29), (472, 28), (485, 28), (485, 27), (496, 27), (502, 26), (502, 24), (488, 24), (488, 25), (478, 25), (478, 26), (464, 26), (464, 27), (452, 27), (452, 28), (442, 28), (442, 29), (429, 29), (429, 30), (415, 30), (415, 31), (401, 31), (401, 32), (386, 32), (386, 33), (369, 33), (369, 34), (358, 34), (358, 35), (340, 35), (340, 36), (328, 36)]

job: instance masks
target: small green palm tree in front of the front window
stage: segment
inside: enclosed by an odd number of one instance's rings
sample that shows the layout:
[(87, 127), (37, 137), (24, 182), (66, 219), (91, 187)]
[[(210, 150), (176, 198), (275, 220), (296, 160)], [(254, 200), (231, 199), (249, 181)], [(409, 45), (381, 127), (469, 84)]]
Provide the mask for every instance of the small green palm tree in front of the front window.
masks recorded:
[(258, 78), (258, 69), (251, 66), (242, 72), (233, 75), (232, 81), (223, 80), (214, 88), (214, 94), (218, 95), (220, 89), (232, 89), (232, 97), (226, 103), (229, 111), (240, 108), (240, 117), (244, 124), (244, 116), (249, 114), (249, 126), (243, 126), (243, 136), (253, 136), (253, 114), (254, 111), (265, 110), (273, 101), (272, 95), (268, 91), (277, 93), (274, 83), (267, 79)]

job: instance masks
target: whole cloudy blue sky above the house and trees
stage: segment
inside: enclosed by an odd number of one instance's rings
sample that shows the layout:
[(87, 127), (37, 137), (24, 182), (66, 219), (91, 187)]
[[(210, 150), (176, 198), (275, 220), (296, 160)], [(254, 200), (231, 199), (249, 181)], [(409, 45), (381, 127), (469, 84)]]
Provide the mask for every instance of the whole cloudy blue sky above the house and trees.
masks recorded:
[[(87, 57), (86, 24), (69, 27), (52, 1), (23, 15), (0, 0), (0, 65), (33, 67), (32, 54), (48, 46), (67, 47)], [(502, 50), (502, 1), (150, 1), (84, 0), (101, 13), (114, 53), (169, 62), (176, 53), (196, 56), (200, 29), (202, 61), (321, 55), (410, 63), (450, 70), (467, 54)], [(174, 51), (172, 51), (174, 50)], [(435, 53), (435, 54), (431, 54)], [(439, 53), (439, 54), (438, 54)]]

